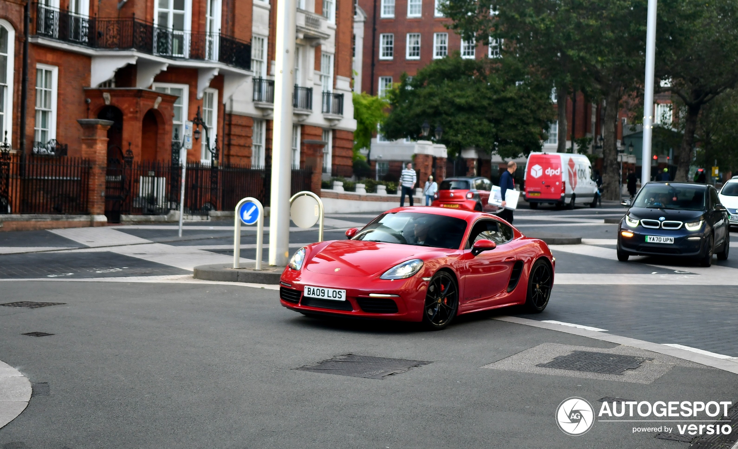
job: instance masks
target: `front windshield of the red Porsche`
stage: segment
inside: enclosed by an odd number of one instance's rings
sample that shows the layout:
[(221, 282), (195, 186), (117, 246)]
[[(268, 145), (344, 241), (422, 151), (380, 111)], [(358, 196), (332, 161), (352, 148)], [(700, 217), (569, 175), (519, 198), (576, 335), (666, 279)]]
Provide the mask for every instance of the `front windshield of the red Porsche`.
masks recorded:
[(465, 231), (461, 218), (394, 212), (376, 217), (353, 240), (458, 249)]

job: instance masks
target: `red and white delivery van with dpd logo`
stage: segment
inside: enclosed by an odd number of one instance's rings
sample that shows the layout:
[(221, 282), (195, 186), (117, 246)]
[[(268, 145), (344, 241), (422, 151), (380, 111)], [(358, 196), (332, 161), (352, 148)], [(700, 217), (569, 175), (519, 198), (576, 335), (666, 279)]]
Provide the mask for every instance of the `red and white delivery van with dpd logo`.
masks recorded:
[(574, 208), (574, 204), (597, 205), (597, 183), (592, 164), (583, 154), (531, 153), (525, 167), (525, 201)]

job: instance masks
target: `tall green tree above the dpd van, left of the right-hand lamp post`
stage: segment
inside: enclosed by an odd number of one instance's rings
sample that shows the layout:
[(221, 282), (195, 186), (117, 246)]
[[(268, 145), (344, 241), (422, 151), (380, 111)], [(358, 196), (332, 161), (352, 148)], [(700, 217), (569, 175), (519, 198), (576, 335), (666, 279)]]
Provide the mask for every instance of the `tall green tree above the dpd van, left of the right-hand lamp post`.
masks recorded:
[(604, 100), (603, 196), (619, 199), (616, 122), (621, 98), (643, 77), (646, 1), (449, 0), (443, 9), (465, 38), (508, 39), (510, 52), (554, 83), (559, 151), (568, 90)]

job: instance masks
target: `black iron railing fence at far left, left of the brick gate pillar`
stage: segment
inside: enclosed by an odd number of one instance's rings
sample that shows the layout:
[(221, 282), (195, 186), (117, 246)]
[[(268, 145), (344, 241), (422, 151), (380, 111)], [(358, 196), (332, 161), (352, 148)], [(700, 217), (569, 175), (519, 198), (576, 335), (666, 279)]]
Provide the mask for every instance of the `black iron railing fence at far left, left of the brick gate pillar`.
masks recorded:
[(86, 159), (0, 151), (0, 214), (86, 214)]

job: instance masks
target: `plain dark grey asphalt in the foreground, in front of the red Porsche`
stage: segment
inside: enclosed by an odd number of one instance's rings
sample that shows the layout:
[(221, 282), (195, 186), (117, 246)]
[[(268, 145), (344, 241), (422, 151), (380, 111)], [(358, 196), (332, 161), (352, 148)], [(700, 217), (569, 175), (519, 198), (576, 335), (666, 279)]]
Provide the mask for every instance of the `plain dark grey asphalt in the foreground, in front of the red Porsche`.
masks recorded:
[[(48, 386), (0, 448), (686, 448), (626, 422), (568, 436), (554, 410), (573, 396), (734, 400), (738, 387), (658, 355), (618, 380), (531, 372), (551, 348), (623, 347), (483, 314), (424, 332), (308, 319), (234, 285), (5, 282), (4, 296), (66, 304), (0, 307), (0, 359)], [(347, 354), (432, 363), (384, 379), (297, 369)]]

